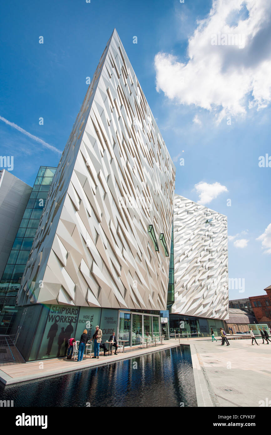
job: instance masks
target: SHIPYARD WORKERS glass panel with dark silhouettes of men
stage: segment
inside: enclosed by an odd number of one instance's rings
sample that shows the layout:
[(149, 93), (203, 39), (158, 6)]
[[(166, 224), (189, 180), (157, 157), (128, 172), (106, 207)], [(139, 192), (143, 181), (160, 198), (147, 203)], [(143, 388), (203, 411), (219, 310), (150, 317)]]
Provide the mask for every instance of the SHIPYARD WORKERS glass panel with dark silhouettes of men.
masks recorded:
[(51, 305), (38, 359), (64, 356), (68, 339), (74, 337), (79, 307)]

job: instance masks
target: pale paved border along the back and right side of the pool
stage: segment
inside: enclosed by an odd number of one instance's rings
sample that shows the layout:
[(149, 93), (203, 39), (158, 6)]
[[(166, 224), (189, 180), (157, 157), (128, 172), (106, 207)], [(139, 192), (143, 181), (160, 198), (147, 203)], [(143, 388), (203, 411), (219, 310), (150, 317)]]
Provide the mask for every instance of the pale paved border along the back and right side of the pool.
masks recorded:
[[(210, 385), (207, 385), (204, 374), (201, 370), (201, 365), (198, 359), (196, 349), (192, 343), (184, 343), (181, 345), (189, 346), (191, 351), (192, 368), (194, 375), (195, 390), (197, 396), (198, 407), (210, 407), (214, 406), (209, 393)], [(34, 380), (40, 380), (42, 378), (48, 378), (55, 375), (67, 374), (72, 371), (83, 370), (85, 368), (97, 367), (100, 365), (106, 365), (125, 359), (130, 359), (145, 355), (151, 352), (157, 352), (164, 349), (174, 348), (179, 346), (178, 340), (168, 340), (166, 344), (152, 347), (152, 348), (137, 348), (134, 351), (128, 351), (118, 353), (104, 358), (100, 355), (98, 359), (87, 358), (80, 363), (77, 361), (67, 361), (62, 358), (52, 358), (43, 361), (33, 361), (24, 364), (7, 365), (0, 369), (0, 382), (5, 385), (14, 385), (22, 382), (29, 382)], [(42, 363), (42, 365), (41, 365)]]

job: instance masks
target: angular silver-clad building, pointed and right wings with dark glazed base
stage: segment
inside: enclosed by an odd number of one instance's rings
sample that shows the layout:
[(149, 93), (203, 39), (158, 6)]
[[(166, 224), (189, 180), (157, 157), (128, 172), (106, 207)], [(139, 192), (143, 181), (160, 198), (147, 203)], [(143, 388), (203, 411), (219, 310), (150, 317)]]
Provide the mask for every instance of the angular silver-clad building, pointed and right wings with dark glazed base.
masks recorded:
[(114, 330), (127, 346), (167, 333), (169, 319), (180, 331), (184, 315), (185, 331), (194, 322), (198, 335), (209, 335), (207, 318), (222, 325), (226, 217), (183, 197), (174, 203), (174, 186), (174, 164), (114, 30), (20, 280), (12, 332), (26, 361), (64, 355), (70, 337), (85, 328), (90, 337), (95, 325), (103, 341)]

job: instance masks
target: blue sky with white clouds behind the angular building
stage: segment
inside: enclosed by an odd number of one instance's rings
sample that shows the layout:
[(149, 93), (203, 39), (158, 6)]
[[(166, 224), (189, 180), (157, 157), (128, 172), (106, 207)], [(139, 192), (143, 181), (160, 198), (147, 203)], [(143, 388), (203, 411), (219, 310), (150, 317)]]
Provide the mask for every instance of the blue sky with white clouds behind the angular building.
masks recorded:
[[(211, 192), (202, 203), (228, 216), (229, 278), (245, 279), (234, 299), (271, 284), (271, 167), (258, 165), (271, 156), (271, 13), (263, 0), (225, 1), (212, 18), (209, 0), (3, 3), (0, 116), (62, 152), (116, 27), (174, 159), (176, 193), (198, 202)], [(245, 47), (209, 43), (227, 26)], [(57, 166), (60, 154), (3, 120), (0, 135), (0, 155), (14, 156), (12, 173), (28, 184), (40, 165)]]

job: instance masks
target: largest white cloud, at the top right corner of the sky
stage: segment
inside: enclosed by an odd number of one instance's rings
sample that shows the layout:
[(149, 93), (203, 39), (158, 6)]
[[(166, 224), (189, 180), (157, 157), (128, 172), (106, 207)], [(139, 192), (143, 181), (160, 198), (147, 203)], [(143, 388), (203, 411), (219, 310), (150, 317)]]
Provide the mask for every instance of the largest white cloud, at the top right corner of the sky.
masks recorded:
[[(157, 91), (213, 111), (218, 121), (266, 107), (271, 102), (270, 23), (271, 1), (214, 0), (188, 40), (187, 62), (168, 53), (155, 56)], [(238, 45), (231, 35), (237, 35)], [(214, 36), (221, 45), (212, 45)]]

